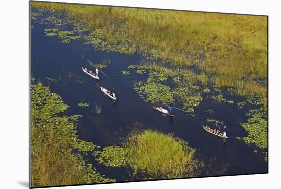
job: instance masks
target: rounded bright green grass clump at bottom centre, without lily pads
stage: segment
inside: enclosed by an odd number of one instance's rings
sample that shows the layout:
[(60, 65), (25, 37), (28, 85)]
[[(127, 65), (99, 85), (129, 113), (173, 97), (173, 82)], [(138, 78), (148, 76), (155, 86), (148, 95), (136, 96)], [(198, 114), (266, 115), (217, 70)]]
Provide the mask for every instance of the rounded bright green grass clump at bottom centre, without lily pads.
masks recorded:
[(146, 130), (131, 134), (124, 143), (129, 166), (153, 178), (195, 176), (195, 150), (172, 134)]

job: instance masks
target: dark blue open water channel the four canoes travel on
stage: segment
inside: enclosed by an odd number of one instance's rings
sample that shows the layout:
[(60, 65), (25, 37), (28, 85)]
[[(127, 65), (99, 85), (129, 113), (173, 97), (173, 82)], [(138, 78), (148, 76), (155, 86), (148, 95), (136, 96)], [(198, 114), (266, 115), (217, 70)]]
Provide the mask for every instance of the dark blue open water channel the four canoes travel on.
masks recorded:
[[(245, 108), (238, 109), (237, 102), (245, 98), (227, 96), (236, 103), (215, 102), (204, 98), (200, 106), (195, 108), (195, 117), (192, 118), (182, 111), (173, 110), (176, 118), (169, 118), (159, 114), (144, 102), (133, 90), (133, 82), (146, 80), (146, 74), (123, 75), (122, 70), (132, 64), (139, 64), (140, 55), (124, 55), (115, 52), (95, 51), (89, 45), (82, 45), (80, 40), (71, 41), (69, 44), (59, 43), (57, 36), (46, 37), (44, 29), (47, 25), (34, 24), (32, 29), (32, 77), (41, 80), (44, 85), (50, 86), (52, 92), (60, 95), (70, 108), (67, 114), (81, 114), (83, 118), (78, 122), (79, 138), (91, 141), (97, 145), (118, 145), (122, 138), (133, 129), (153, 129), (163, 133), (174, 133), (175, 136), (189, 142), (197, 150), (197, 158), (210, 163), (213, 161), (210, 175), (232, 175), (267, 172), (267, 163), (263, 157), (253, 150), (254, 147), (246, 145), (237, 136), (246, 136), (246, 131), (239, 123), (247, 122), (245, 113), (252, 108), (247, 104)], [(84, 57), (84, 58), (83, 58)], [(109, 78), (100, 73), (97, 81), (82, 72), (81, 67), (89, 67), (87, 62), (102, 62), (110, 60), (107, 68), (102, 69)], [(90, 68), (94, 70), (94, 68)], [(46, 79), (61, 78), (57, 82)], [(79, 83), (82, 81), (82, 84)], [(105, 96), (99, 86), (117, 90), (117, 101)], [(78, 107), (79, 102), (86, 102), (89, 107)], [(101, 114), (95, 113), (95, 103), (102, 108)], [(207, 113), (213, 110), (214, 113)], [(225, 140), (204, 132), (202, 125), (206, 119), (224, 121), (227, 125)], [(135, 124), (140, 123), (140, 124)], [(106, 177), (116, 178), (117, 181), (131, 180), (130, 174), (125, 169), (113, 169), (97, 164), (95, 158), (89, 156), (98, 172)], [(204, 174), (202, 176), (205, 176)]]

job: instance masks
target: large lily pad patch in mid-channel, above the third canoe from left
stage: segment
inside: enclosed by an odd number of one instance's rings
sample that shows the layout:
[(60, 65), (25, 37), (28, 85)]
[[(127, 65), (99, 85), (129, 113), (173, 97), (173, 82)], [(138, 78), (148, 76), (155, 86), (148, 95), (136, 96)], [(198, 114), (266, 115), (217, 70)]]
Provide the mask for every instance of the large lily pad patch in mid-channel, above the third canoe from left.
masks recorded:
[[(163, 104), (173, 103), (175, 98), (182, 102), (182, 108), (193, 113), (194, 107), (203, 99), (200, 88), (196, 85), (197, 75), (189, 70), (173, 70), (158, 66), (151, 62), (142, 62), (142, 65), (130, 65), (129, 69), (136, 69), (136, 73), (148, 73), (146, 82), (135, 82), (135, 90), (146, 102)], [(167, 86), (168, 77), (176, 83), (176, 88)]]

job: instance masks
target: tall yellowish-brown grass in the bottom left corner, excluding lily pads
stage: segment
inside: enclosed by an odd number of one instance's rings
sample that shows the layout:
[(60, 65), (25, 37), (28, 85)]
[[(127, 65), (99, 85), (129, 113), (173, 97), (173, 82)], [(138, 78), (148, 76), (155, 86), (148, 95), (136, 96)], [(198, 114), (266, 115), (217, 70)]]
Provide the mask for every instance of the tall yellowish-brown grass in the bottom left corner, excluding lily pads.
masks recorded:
[(87, 175), (79, 156), (72, 153), (72, 148), (65, 140), (57, 141), (53, 130), (43, 133), (32, 126), (32, 186), (58, 186), (81, 184)]

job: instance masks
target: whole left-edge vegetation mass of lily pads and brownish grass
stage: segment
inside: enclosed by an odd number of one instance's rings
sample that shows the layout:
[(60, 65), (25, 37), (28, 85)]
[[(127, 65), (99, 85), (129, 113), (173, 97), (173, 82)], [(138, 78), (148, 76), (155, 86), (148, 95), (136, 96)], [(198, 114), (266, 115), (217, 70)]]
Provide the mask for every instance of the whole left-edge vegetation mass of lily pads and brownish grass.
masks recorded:
[(81, 115), (58, 116), (67, 108), (62, 98), (42, 83), (31, 85), (32, 187), (114, 182), (81, 155), (98, 146), (78, 139), (75, 122)]

